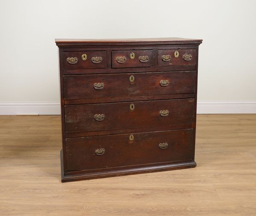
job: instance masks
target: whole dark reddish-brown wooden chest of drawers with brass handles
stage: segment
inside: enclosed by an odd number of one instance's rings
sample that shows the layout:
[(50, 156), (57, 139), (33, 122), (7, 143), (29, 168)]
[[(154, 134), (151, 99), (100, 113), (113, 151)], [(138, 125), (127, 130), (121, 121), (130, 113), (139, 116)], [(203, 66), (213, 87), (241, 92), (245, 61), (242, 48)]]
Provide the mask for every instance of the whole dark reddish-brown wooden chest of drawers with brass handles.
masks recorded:
[(195, 167), (202, 40), (56, 39), (61, 181)]

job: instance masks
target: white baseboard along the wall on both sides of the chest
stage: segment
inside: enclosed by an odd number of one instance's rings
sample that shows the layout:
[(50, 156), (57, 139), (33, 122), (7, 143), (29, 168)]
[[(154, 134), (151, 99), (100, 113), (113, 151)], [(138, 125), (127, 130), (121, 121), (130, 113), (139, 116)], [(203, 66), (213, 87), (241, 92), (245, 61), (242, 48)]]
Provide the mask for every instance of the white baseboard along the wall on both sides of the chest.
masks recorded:
[[(198, 114), (256, 113), (256, 101), (198, 101)], [(0, 102), (0, 115), (60, 115), (59, 102)]]

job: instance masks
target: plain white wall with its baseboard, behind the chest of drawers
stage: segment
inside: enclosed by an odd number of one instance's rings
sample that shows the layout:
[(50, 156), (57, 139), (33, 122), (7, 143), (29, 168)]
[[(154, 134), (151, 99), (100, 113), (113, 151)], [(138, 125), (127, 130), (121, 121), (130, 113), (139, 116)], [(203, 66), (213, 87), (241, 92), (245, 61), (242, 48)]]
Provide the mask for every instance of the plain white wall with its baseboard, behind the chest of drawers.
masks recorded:
[(0, 0), (0, 114), (59, 112), (55, 38), (133, 37), (202, 38), (198, 111), (256, 112), (255, 9), (254, 0)]

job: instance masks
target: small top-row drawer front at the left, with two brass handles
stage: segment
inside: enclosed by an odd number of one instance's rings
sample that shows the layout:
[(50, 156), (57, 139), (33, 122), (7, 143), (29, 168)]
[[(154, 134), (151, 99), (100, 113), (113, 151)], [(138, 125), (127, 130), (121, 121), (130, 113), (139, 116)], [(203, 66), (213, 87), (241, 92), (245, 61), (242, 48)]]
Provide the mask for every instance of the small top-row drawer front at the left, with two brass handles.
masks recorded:
[(64, 69), (106, 68), (106, 51), (63, 52)]

